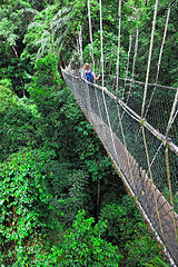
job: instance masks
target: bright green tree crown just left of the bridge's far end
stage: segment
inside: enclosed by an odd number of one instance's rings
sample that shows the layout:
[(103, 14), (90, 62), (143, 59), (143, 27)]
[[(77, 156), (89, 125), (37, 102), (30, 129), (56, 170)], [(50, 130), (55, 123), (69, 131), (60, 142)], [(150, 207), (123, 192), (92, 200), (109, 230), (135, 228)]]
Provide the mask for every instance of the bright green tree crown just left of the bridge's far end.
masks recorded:
[(62, 80), (58, 73), (58, 61), (55, 55), (46, 56), (36, 63), (36, 73), (28, 91), (36, 101), (39, 111), (48, 120), (53, 121), (59, 101), (59, 86)]

